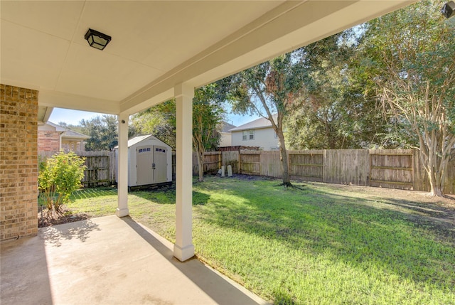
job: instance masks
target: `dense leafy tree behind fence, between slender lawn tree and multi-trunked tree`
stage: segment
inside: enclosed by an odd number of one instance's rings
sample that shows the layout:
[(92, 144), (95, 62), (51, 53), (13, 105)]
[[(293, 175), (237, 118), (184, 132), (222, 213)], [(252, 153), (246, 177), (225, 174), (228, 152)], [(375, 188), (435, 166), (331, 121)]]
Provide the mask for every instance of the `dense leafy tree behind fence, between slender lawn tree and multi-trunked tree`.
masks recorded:
[[(304, 91), (286, 117), (294, 149), (355, 149), (379, 144), (385, 121), (357, 62), (356, 28), (301, 48)], [(366, 93), (366, 94), (365, 94)]]

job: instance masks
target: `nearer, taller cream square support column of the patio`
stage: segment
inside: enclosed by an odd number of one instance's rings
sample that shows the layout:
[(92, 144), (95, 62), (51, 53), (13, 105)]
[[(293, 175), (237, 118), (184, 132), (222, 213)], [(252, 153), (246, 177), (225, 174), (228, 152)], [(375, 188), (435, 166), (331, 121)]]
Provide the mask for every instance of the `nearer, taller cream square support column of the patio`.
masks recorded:
[(193, 245), (193, 97), (194, 87), (179, 84), (176, 97), (176, 243), (181, 262), (194, 256)]

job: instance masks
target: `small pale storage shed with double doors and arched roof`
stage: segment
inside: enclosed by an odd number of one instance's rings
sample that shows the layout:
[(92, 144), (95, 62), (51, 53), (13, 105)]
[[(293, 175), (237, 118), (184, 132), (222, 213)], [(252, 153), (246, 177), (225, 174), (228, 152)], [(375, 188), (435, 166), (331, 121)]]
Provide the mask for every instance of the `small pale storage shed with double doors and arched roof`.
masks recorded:
[[(119, 149), (115, 147), (118, 173)], [(115, 181), (117, 181), (115, 176)], [(118, 182), (118, 181), (117, 181)], [(128, 186), (146, 186), (172, 182), (172, 149), (154, 136), (140, 136), (128, 141)]]

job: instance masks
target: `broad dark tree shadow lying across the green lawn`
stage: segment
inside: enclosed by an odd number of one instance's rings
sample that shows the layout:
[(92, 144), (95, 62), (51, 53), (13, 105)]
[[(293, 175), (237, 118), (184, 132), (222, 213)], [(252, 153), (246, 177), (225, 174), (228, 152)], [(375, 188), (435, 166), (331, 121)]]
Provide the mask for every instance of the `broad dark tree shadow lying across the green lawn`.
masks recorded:
[(245, 196), (245, 190), (235, 188), (224, 192), (243, 200), (211, 200), (210, 209), (200, 211), (205, 222), (274, 239), (314, 255), (330, 253), (349, 266), (363, 270), (375, 266), (441, 290), (455, 285), (455, 225), (434, 219), (447, 216), (449, 209), (341, 196), (314, 188), (299, 191), (298, 200), (292, 191), (274, 196), (260, 191)]

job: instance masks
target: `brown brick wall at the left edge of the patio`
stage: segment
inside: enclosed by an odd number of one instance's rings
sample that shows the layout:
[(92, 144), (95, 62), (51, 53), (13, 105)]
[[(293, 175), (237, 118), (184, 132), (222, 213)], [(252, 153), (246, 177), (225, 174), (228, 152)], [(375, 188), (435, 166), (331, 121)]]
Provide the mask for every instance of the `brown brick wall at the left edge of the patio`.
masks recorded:
[(0, 84), (0, 240), (38, 232), (38, 91)]

